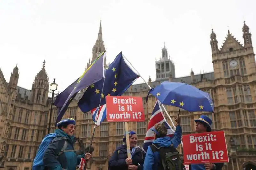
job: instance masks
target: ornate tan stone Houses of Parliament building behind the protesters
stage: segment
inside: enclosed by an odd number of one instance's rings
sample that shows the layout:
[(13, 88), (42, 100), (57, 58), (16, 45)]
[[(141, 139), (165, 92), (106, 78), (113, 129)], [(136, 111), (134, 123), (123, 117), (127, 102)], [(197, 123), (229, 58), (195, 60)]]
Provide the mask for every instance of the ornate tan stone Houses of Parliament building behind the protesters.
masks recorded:
[[(212, 120), (213, 130), (224, 130), (229, 153), (229, 163), (225, 170), (252, 170), (256, 167), (256, 63), (249, 26), (242, 25), (241, 36), (243, 45), (228, 30), (227, 37), (219, 47), (217, 36), (212, 30), (210, 45), (212, 49), (212, 64), (214, 71), (175, 77), (175, 65), (168, 56), (167, 48), (162, 48), (162, 57), (156, 61), (156, 80), (149, 77), (148, 84), (154, 88), (163, 81), (184, 82), (193, 85), (212, 97), (215, 113), (190, 113), (181, 110), (180, 119), (183, 134), (194, 133), (194, 119), (200, 115), (208, 115)], [(208, 42), (205, 42), (208, 43)], [(102, 38), (102, 26), (93, 46), (91, 62), (105, 50)], [(19, 69), (14, 67), (9, 82), (0, 69), (0, 169), (31, 170), (36, 151), (47, 133), (51, 98), (48, 97), (49, 79), (46, 73), (46, 63), (38, 69), (31, 89), (18, 86)], [(21, 73), (22, 74), (22, 73)], [(5, 75), (7, 76), (7, 75)], [(148, 127), (151, 112), (156, 98), (149, 96), (145, 83), (132, 85), (124, 95), (141, 96), (144, 100), (145, 122), (129, 122), (129, 129), (138, 134), (138, 145), (142, 146)], [(91, 113), (82, 113), (77, 101), (82, 96), (77, 94), (70, 103), (65, 117), (76, 120), (76, 137), (89, 145), (92, 136), (93, 121)], [(175, 120), (178, 108), (165, 106), (169, 115)], [(55, 127), (57, 109), (53, 107), (51, 132)], [(167, 119), (168, 120), (168, 119)], [(169, 122), (170, 123), (170, 122)], [(103, 122), (95, 131), (92, 146), (93, 158), (88, 169), (107, 170), (108, 159), (122, 143), (124, 134), (123, 122)], [(233, 139), (233, 142), (229, 142)], [(76, 144), (76, 148), (78, 148)], [(179, 146), (180, 154), (183, 153)]]

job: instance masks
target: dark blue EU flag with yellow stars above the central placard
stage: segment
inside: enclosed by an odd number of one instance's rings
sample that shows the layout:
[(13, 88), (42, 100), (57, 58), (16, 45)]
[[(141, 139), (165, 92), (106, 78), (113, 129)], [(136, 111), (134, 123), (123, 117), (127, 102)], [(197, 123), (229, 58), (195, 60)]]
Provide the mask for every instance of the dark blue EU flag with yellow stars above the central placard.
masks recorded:
[(139, 78), (139, 75), (134, 73), (124, 61), (122, 52), (106, 68), (105, 75), (102, 95), (103, 79), (89, 86), (84, 92), (83, 97), (78, 102), (78, 106), (82, 112), (85, 113), (99, 107), (100, 98), (100, 105), (104, 105), (106, 103), (106, 96), (121, 96)]

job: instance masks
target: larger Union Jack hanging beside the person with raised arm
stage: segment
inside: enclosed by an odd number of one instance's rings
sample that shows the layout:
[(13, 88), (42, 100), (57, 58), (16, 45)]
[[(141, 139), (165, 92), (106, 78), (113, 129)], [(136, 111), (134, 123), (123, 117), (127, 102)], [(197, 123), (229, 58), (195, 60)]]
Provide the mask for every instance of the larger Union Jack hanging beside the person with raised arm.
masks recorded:
[(174, 135), (174, 130), (165, 119), (161, 104), (157, 100), (148, 123), (148, 130), (143, 143), (143, 150), (145, 152), (147, 152), (148, 146), (154, 141), (154, 132), (151, 130), (151, 128), (154, 128), (155, 125), (159, 123), (164, 123), (164, 125), (166, 126), (168, 130), (167, 136), (172, 137)]

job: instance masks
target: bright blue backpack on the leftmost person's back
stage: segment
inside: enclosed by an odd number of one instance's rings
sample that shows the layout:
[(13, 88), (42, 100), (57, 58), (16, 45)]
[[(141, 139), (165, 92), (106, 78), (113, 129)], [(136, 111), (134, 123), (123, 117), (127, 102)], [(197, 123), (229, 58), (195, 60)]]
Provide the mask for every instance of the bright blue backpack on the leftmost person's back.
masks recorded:
[(46, 135), (44, 137), (44, 139), (42, 140), (42, 142), (38, 148), (36, 157), (33, 161), (32, 170), (44, 170), (45, 169), (45, 166), (43, 163), (44, 152), (51, 142), (58, 141), (58, 140), (65, 140), (65, 142), (64, 142), (64, 145), (63, 145), (61, 151), (57, 154), (57, 156), (60, 156), (63, 152), (65, 152), (65, 149), (68, 146), (67, 138), (57, 137), (56, 133), (49, 133), (48, 135)]

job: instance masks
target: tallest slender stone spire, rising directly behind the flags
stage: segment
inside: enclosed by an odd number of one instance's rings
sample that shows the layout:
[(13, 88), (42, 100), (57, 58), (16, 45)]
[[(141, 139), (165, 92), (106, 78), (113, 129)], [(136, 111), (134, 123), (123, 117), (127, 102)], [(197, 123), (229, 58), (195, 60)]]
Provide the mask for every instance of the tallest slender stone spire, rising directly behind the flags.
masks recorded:
[[(92, 59), (91, 59), (90, 65), (104, 51), (105, 51), (105, 47), (104, 47), (104, 42), (103, 42), (103, 38), (102, 38), (102, 27), (101, 27), (101, 21), (100, 21), (98, 38), (97, 38), (97, 40), (93, 46), (93, 49), (92, 49)], [(106, 66), (106, 59), (104, 61), (104, 65)]]

